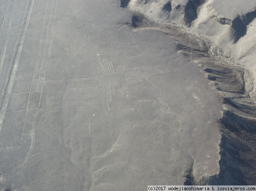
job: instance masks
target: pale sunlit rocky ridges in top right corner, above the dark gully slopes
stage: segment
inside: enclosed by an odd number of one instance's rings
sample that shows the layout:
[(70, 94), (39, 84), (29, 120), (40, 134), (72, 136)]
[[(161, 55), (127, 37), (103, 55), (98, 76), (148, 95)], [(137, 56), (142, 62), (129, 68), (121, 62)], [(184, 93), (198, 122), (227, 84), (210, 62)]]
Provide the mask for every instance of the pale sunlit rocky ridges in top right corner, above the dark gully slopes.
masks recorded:
[(212, 54), (244, 65), (256, 83), (255, 0), (121, 0), (120, 5), (207, 38)]

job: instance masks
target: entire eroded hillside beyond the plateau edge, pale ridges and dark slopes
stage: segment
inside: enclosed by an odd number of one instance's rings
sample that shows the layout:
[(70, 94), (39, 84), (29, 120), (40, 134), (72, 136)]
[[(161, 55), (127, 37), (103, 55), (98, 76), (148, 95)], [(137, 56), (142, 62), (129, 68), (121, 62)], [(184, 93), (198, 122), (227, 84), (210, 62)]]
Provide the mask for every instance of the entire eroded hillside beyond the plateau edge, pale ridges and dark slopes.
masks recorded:
[(223, 95), (219, 173), (192, 165), (184, 184), (255, 185), (256, 1), (121, 0), (120, 6), (132, 10), (132, 27), (172, 37)]

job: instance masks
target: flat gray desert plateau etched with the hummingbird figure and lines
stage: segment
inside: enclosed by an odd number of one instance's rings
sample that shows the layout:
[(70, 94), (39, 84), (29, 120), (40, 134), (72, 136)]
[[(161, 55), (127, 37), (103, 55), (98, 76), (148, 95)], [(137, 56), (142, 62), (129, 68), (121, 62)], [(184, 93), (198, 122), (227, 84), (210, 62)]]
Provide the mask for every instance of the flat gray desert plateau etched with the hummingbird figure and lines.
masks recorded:
[(117, 1), (0, 8), (2, 190), (145, 190), (220, 174), (222, 96), (194, 42), (130, 27)]

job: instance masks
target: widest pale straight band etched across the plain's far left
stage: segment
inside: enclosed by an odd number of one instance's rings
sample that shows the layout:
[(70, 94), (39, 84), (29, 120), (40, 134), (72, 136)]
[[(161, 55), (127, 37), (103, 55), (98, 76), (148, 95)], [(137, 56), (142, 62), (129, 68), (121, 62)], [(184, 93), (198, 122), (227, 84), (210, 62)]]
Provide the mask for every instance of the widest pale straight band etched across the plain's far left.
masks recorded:
[(31, 2), (29, 4), (29, 11), (28, 11), (28, 14), (27, 14), (27, 17), (26, 17), (25, 27), (24, 27), (23, 33), (20, 37), (20, 43), (18, 45), (17, 52), (16, 52), (16, 55), (15, 55), (14, 66), (12, 68), (11, 76), (9, 78), (9, 82), (8, 82), (7, 88), (6, 88), (6, 93), (7, 94), (3, 99), (3, 105), (2, 105), (1, 110), (0, 110), (0, 134), (1, 134), (1, 131), (2, 131), (2, 128), (3, 128), (3, 121), (4, 121), (4, 118), (5, 118), (6, 109), (7, 109), (8, 104), (9, 104), (10, 95), (12, 93), (12, 86), (14, 84), (16, 71), (17, 71), (17, 68), (19, 66), (20, 55), (21, 55), (21, 51), (22, 51), (22, 48), (23, 48), (23, 45), (24, 45), (25, 38), (26, 38), (26, 34), (27, 34), (29, 21), (30, 21), (30, 17), (31, 17), (31, 14), (32, 14), (32, 9), (33, 9), (34, 3), (35, 3), (35, 0), (31, 0)]

